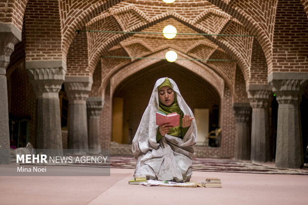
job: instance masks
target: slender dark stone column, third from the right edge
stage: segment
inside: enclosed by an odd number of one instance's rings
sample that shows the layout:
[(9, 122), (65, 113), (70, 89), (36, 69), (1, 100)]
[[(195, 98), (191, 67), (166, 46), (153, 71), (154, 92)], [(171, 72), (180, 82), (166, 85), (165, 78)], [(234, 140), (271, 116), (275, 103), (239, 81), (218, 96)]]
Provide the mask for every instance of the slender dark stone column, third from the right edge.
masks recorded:
[(250, 130), (249, 119), (251, 107), (249, 103), (233, 103), (233, 111), (236, 121), (236, 137), (234, 158), (250, 160)]

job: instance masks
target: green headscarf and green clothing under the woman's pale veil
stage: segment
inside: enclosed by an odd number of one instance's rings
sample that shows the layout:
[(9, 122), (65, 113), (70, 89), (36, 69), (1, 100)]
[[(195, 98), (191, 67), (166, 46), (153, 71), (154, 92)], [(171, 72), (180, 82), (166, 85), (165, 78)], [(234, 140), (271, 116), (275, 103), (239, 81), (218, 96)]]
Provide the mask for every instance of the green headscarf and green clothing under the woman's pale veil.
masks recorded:
[[(158, 89), (158, 93), (159, 93), (159, 89), (163, 86), (169, 86), (170, 88), (172, 88), (171, 82), (169, 80), (169, 78), (165, 78), (165, 80), (163, 81), (163, 83), (161, 83), (157, 89)], [(173, 88), (172, 88), (173, 89)], [(174, 92), (174, 91), (173, 91)], [(182, 128), (182, 119), (184, 117), (184, 113), (182, 112), (180, 106), (177, 103), (177, 99), (176, 99), (176, 92), (174, 92), (174, 101), (171, 105), (166, 106), (163, 103), (161, 103), (159, 101), (159, 110), (163, 113), (165, 113), (166, 115), (170, 114), (170, 113), (177, 113), (180, 115), (180, 126), (178, 127), (174, 127), (170, 129), (170, 132), (168, 133), (168, 135), (174, 136), (174, 137), (180, 137), (183, 138), (188, 130), (188, 128)], [(157, 135), (156, 135), (156, 141), (158, 142), (160, 139), (162, 138), (162, 136), (160, 135), (158, 129), (157, 129)]]

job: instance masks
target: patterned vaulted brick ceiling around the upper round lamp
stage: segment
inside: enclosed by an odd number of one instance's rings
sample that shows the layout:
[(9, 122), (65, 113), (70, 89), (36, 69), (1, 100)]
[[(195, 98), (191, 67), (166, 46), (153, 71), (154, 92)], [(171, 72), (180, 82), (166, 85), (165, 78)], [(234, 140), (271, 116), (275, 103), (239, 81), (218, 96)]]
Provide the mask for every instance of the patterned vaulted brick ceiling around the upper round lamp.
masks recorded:
[[(171, 4), (161, 0), (124, 0), (92, 18), (86, 24), (86, 29), (161, 33), (166, 25), (175, 26), (178, 33), (250, 34), (231, 15), (204, 0), (176, 0)], [(170, 48), (186, 54), (188, 58), (237, 60), (247, 79), (252, 41), (252, 37), (177, 35), (174, 39), (166, 39), (157, 34), (89, 32), (88, 54), (90, 67), (95, 67), (100, 56), (146, 57)], [(103, 59), (103, 72), (107, 75), (110, 70), (124, 67), (133, 61)], [(222, 62), (217, 66), (206, 61), (203, 64), (213, 68), (225, 78), (227, 84), (233, 86), (234, 65)]]

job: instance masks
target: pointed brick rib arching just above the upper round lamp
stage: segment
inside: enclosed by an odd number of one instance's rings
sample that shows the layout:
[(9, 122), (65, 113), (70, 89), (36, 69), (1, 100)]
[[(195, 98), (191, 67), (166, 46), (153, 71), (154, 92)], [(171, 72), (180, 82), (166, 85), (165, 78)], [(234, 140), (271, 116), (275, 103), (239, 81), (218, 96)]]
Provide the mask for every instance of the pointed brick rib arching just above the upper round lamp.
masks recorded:
[[(142, 27), (139, 27), (138, 29), (135, 29), (133, 31), (141, 31), (143, 29), (149, 28), (163, 20), (169, 19), (169, 18), (173, 18), (177, 21), (179, 21), (180, 23), (184, 24), (185, 26), (193, 29), (194, 31), (197, 31), (198, 33), (205, 33), (203, 30), (200, 30), (199, 28), (196, 28), (195, 26), (193, 26), (192, 24), (190, 24), (190, 21), (186, 21), (183, 17), (181, 17), (180, 15), (174, 13), (174, 12), (169, 12), (169, 13), (164, 13), (162, 15), (159, 16), (160, 18), (155, 19), (154, 21), (148, 23), (147, 25), (144, 25)], [(101, 42), (101, 44), (99, 46), (97, 46), (96, 48), (92, 48), (95, 49), (95, 53), (89, 57), (89, 67), (95, 67), (97, 65), (97, 62), (100, 59), (100, 56), (107, 52), (110, 48), (112, 48), (113, 46), (117, 45), (119, 42), (129, 38), (133, 36), (133, 34), (123, 34), (123, 35), (116, 35), (114, 38), (109, 39), (108, 41), (99, 41)], [(213, 43), (217, 44), (218, 46), (222, 47), (233, 59), (236, 59), (239, 63), (239, 65), (246, 65), (243, 57), (239, 54), (234, 54), (234, 48), (232, 48), (232, 46), (230, 44), (226, 45), (222, 42), (220, 42), (219, 40), (217, 40), (214, 37), (211, 36), (207, 36), (207, 38), (212, 41)], [(242, 68), (242, 70), (245, 70), (245, 68)], [(247, 70), (247, 69), (246, 69)], [(245, 72), (245, 75), (249, 76), (249, 73), (247, 73), (249, 71)], [(246, 76), (245, 76), (246, 78)]]

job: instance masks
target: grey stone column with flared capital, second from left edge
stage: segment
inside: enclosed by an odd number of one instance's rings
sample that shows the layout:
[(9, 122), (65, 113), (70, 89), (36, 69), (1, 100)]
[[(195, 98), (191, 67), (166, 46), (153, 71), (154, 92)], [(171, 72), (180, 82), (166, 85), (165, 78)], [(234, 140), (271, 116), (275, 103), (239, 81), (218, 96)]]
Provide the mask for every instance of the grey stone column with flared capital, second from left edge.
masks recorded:
[(57, 149), (62, 154), (59, 91), (66, 64), (58, 61), (26, 62), (26, 69), (37, 98), (36, 148)]

